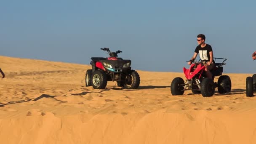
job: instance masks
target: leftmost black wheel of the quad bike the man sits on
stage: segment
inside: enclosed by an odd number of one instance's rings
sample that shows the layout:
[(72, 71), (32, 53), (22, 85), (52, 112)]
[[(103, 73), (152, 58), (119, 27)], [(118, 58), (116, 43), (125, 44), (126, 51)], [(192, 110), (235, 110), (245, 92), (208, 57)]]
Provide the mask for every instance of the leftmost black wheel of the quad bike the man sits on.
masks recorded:
[(184, 80), (181, 77), (174, 78), (171, 82), (171, 94), (173, 96), (183, 95), (184, 85)]

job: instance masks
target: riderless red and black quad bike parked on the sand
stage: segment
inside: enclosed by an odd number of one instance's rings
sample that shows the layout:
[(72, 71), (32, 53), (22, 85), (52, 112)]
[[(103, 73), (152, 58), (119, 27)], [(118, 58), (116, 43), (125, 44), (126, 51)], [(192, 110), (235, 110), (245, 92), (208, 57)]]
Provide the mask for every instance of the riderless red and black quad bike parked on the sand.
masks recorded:
[(85, 86), (93, 86), (95, 89), (104, 89), (107, 81), (117, 81), (117, 86), (128, 89), (136, 89), (140, 84), (138, 72), (131, 69), (131, 60), (117, 58), (122, 51), (111, 52), (109, 48), (101, 48), (109, 53), (108, 58), (92, 57), (92, 69), (85, 74)]

